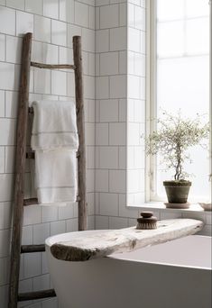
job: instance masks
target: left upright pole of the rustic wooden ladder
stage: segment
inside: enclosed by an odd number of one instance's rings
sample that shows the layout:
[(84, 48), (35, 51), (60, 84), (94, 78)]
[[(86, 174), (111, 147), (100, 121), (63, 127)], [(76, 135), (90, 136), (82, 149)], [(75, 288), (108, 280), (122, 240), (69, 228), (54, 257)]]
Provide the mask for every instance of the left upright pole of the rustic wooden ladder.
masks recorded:
[(11, 248), (11, 268), (9, 285), (9, 308), (17, 307), (20, 251), (23, 227), (23, 179), (24, 163), (26, 157), (26, 131), (28, 117), (28, 101), (30, 86), (30, 66), (32, 50), (32, 33), (23, 37), (22, 69), (19, 88), (19, 107), (16, 138), (16, 159), (14, 174), (14, 213), (13, 213), (13, 234)]

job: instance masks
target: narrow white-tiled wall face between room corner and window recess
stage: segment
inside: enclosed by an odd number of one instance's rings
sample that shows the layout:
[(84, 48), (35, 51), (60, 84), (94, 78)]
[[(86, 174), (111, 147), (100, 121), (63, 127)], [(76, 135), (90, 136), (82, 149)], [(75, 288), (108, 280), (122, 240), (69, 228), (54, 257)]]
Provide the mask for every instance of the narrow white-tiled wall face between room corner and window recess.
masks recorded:
[(96, 2), (96, 228), (122, 227), (126, 192), (127, 4)]

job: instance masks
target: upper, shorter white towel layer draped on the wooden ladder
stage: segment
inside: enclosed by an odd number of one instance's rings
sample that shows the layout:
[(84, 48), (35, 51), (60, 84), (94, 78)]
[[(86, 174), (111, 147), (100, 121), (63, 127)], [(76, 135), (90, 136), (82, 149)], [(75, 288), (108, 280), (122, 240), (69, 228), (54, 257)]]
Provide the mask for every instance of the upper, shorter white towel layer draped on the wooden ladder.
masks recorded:
[(32, 149), (78, 149), (74, 102), (38, 101), (32, 107)]

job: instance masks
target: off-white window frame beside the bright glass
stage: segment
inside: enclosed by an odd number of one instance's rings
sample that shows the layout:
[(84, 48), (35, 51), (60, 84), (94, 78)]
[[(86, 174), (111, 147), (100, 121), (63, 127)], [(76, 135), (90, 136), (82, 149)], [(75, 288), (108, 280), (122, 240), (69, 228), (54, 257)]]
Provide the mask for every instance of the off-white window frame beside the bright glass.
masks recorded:
[[(156, 113), (156, 84), (157, 84), (157, 59), (156, 59), (156, 0), (146, 1), (146, 136), (155, 129)], [(209, 66), (210, 66), (210, 87), (209, 87), (209, 113), (210, 113), (210, 131), (212, 123), (212, 0), (209, 0), (210, 5), (210, 51), (209, 51)], [(210, 133), (210, 179), (212, 192), (212, 136)], [(160, 202), (163, 201), (156, 195), (156, 159), (148, 156), (145, 158), (145, 201)]]

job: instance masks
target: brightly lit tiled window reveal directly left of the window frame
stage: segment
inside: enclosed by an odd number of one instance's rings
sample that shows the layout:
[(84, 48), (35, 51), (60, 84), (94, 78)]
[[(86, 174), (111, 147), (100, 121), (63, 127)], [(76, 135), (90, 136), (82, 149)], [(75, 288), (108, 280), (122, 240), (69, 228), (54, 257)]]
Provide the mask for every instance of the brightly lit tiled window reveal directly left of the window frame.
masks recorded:
[(127, 76), (127, 205), (144, 201), (145, 132), (145, 8), (143, 1), (128, 3)]

